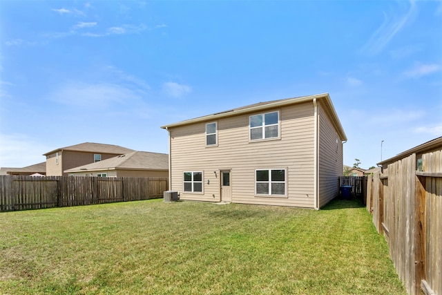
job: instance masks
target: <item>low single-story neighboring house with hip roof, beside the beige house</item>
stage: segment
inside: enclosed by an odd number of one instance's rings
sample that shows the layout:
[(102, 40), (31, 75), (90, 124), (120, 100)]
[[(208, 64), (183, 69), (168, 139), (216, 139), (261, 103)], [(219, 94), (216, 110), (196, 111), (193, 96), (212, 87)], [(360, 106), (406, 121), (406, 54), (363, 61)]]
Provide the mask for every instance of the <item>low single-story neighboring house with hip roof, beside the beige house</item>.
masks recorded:
[(73, 176), (169, 177), (169, 155), (133, 151), (100, 162), (65, 170)]

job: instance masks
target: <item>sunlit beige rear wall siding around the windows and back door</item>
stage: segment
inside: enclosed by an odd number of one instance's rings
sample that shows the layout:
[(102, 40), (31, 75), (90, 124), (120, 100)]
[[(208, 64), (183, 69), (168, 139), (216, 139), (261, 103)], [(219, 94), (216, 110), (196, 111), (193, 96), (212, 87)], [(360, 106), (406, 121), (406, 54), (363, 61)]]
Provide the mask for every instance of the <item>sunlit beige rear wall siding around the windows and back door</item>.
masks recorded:
[[(224, 117), (216, 121), (216, 147), (205, 144), (206, 122), (169, 129), (171, 189), (179, 191), (183, 200), (219, 201), (220, 171), (231, 169), (232, 202), (314, 207), (313, 103), (269, 108), (262, 113), (271, 111), (280, 111), (278, 140), (249, 140), (249, 116), (259, 113)], [(255, 196), (256, 169), (287, 169), (287, 196)], [(184, 171), (203, 172), (204, 193), (183, 192)]]

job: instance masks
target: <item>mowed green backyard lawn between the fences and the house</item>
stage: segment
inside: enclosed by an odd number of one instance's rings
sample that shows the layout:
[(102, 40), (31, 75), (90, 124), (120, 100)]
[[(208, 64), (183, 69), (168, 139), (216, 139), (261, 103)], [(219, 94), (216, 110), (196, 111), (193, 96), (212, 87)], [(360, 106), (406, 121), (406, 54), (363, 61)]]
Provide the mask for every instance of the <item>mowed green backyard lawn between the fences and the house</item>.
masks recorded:
[(406, 294), (356, 201), (0, 213), (0, 294)]

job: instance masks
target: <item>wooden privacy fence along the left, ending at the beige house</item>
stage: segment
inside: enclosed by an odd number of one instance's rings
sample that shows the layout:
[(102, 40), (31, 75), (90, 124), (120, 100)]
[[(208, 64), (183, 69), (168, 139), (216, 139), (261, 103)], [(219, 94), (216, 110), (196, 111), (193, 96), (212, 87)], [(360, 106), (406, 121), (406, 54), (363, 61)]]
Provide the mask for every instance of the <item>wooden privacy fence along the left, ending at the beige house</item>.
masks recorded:
[(162, 198), (168, 178), (0, 175), (0, 211)]

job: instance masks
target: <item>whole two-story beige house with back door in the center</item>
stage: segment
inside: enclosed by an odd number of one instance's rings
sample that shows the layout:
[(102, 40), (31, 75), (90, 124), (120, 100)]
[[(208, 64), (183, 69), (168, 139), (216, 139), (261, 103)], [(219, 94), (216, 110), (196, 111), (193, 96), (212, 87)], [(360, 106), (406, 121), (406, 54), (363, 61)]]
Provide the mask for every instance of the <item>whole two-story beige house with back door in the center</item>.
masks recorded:
[(319, 209), (338, 196), (347, 140), (327, 93), (162, 126), (182, 200)]

